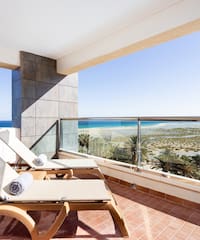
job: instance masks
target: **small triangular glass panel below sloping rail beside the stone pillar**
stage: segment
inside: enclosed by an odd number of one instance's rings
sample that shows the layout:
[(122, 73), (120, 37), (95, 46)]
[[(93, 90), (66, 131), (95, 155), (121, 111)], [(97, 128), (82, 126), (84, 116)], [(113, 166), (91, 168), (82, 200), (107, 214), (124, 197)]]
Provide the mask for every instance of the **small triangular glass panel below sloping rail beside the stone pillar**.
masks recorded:
[(31, 150), (38, 156), (46, 154), (51, 159), (57, 151), (57, 123), (55, 123), (32, 147)]

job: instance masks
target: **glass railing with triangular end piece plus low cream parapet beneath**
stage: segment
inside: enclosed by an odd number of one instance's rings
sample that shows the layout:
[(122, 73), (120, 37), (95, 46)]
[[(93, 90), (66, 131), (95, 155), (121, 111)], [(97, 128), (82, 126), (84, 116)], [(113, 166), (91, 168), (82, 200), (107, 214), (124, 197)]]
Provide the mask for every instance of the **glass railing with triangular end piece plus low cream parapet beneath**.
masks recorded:
[(199, 204), (199, 135), (194, 117), (61, 119), (32, 150), (92, 157), (117, 181)]

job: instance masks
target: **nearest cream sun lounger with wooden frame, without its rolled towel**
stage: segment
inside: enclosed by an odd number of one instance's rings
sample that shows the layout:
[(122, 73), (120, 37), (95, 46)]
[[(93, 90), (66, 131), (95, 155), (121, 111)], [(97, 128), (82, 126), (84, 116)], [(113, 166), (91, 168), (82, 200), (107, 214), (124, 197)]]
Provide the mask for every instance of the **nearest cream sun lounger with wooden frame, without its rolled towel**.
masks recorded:
[[(20, 195), (11, 195), (9, 184), (18, 174), (0, 159), (0, 215), (16, 218), (29, 231), (32, 240), (50, 239), (58, 231), (70, 210), (108, 210), (123, 237), (128, 236), (125, 222), (102, 179), (90, 180), (33, 180)], [(58, 211), (45, 233), (28, 211)]]

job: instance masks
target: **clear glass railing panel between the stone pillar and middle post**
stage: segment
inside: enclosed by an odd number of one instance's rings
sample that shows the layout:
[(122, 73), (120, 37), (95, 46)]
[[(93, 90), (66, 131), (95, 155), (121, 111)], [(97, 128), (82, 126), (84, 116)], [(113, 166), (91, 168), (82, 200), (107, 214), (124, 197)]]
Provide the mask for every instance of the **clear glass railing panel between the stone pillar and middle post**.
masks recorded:
[(61, 148), (122, 162), (136, 162), (137, 121), (87, 119), (61, 121)]

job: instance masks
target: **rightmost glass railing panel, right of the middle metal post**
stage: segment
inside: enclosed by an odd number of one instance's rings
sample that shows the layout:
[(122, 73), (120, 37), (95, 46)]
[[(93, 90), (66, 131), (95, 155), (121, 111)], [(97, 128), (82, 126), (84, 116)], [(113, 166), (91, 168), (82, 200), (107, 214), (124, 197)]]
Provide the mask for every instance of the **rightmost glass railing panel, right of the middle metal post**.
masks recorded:
[(142, 121), (141, 159), (146, 169), (200, 179), (200, 122)]

